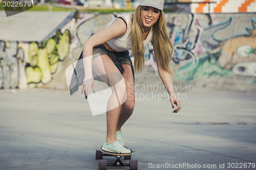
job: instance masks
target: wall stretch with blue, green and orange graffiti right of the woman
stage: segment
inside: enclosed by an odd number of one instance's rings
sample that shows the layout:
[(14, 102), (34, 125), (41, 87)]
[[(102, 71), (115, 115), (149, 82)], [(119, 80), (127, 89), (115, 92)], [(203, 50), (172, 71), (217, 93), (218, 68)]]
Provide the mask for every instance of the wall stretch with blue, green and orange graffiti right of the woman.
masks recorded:
[(254, 14), (168, 14), (167, 20), (179, 65), (176, 80), (256, 77)]

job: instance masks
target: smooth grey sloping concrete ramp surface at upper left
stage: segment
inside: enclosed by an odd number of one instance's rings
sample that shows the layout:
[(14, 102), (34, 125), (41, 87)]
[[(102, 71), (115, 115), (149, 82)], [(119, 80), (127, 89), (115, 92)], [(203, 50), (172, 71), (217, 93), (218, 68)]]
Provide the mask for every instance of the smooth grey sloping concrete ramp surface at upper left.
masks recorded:
[(0, 40), (45, 41), (74, 16), (74, 12), (22, 12), (6, 17), (0, 11)]

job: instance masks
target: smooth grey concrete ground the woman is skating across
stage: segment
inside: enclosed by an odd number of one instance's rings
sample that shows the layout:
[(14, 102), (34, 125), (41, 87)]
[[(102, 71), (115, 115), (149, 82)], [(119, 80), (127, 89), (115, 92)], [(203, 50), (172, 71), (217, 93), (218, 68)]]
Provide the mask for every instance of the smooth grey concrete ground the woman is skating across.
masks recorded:
[[(13, 92), (0, 90), (0, 169), (98, 169), (105, 114), (92, 116), (66, 90)], [(255, 94), (183, 92), (173, 114), (167, 99), (143, 100), (147, 93), (138, 92), (122, 129), (138, 169), (256, 169)]]

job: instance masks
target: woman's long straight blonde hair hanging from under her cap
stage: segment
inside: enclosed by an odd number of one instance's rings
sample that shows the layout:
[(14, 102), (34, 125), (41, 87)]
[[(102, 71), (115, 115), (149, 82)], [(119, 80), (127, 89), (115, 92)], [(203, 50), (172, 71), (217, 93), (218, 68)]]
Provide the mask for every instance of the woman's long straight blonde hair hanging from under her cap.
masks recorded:
[[(131, 41), (132, 41), (132, 52), (134, 55), (134, 66), (136, 72), (142, 71), (144, 67), (144, 44), (143, 44), (143, 23), (141, 21), (141, 10), (142, 6), (138, 6), (131, 16), (132, 30), (131, 30)], [(166, 19), (164, 12), (160, 10), (160, 16), (158, 21), (153, 25), (153, 38), (156, 43), (156, 50), (160, 57), (160, 62), (163, 68), (172, 74), (172, 70), (169, 68), (170, 60), (174, 54), (174, 46), (170, 42), (167, 30), (166, 30)]]

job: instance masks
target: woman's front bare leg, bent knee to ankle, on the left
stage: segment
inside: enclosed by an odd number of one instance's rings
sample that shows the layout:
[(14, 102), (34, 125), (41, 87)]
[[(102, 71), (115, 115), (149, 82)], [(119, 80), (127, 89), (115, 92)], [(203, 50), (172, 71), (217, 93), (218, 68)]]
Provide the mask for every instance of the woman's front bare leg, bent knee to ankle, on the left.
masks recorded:
[(93, 60), (93, 70), (113, 90), (106, 108), (106, 142), (113, 143), (116, 141), (116, 129), (121, 105), (126, 99), (125, 81), (107, 55), (101, 55)]

